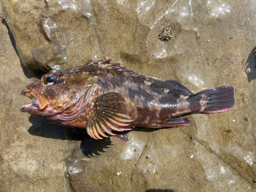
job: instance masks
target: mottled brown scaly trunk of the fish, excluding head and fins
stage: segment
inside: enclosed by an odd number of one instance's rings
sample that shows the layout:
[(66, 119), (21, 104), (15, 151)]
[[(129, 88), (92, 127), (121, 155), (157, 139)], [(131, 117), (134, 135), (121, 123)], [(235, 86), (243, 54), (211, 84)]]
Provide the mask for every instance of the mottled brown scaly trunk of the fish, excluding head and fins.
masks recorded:
[[(110, 92), (123, 96), (127, 112), (133, 120), (130, 124), (131, 127), (155, 127), (163, 121), (192, 112), (187, 108), (185, 99), (178, 99), (182, 95), (173, 94), (170, 90), (163, 90), (156, 85), (152, 86), (150, 78), (138, 80), (136, 77), (120, 72), (99, 67), (92, 69), (89, 66), (83, 66), (78, 71), (96, 75), (98, 77), (95, 82), (97, 88), (82, 115), (73, 122), (65, 123), (67, 125), (86, 127), (88, 116), (94, 110), (93, 100)], [(162, 126), (158, 125), (158, 127)]]

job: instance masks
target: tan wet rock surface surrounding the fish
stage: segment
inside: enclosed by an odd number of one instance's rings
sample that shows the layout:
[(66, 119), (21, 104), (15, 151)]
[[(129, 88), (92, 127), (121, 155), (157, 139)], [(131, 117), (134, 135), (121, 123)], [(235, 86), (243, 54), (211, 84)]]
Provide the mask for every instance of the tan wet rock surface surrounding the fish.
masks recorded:
[[(0, 191), (256, 191), (256, 3), (220, 2), (1, 0)], [(107, 58), (193, 92), (233, 86), (236, 104), (129, 143), (19, 112), (31, 72)]]

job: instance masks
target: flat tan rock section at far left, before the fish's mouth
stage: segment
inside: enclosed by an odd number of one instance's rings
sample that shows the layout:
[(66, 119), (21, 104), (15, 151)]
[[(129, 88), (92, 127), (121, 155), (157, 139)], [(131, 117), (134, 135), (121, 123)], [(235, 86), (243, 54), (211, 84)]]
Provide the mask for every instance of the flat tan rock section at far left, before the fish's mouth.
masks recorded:
[(61, 126), (20, 116), (18, 105), (29, 102), (20, 89), (35, 79), (26, 77), (3, 24), (0, 35), (0, 191), (72, 191), (66, 159), (76, 141), (67, 140)]

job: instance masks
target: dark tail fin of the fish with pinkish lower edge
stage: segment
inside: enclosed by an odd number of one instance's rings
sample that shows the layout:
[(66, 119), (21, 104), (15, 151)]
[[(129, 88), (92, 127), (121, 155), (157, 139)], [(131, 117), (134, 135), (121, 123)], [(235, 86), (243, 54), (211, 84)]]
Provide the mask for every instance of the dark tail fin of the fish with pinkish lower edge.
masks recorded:
[(234, 91), (232, 86), (223, 86), (199, 93), (202, 113), (218, 113), (231, 110), (234, 106)]

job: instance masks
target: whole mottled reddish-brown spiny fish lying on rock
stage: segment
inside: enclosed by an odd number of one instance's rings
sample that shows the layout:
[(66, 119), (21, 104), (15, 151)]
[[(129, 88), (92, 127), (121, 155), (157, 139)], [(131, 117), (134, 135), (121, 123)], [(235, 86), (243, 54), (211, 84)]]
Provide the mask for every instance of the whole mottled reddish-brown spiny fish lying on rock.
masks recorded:
[(218, 113), (234, 106), (232, 86), (194, 94), (176, 80), (146, 77), (112, 59), (50, 72), (21, 94), (33, 102), (20, 111), (63, 126), (87, 129), (94, 139), (114, 136), (128, 142), (123, 131), (189, 125), (182, 115)]

